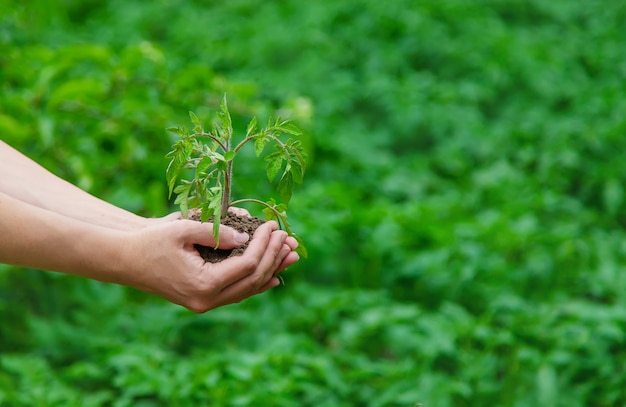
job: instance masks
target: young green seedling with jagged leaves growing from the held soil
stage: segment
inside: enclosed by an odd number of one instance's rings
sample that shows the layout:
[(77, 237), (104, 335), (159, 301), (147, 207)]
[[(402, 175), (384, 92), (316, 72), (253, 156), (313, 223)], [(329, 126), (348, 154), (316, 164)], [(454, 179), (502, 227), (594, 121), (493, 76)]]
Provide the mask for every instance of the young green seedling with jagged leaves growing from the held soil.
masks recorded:
[[(226, 97), (222, 100), (217, 120), (210, 132), (204, 130), (200, 119), (193, 112), (189, 112), (189, 115), (194, 126), (191, 132), (182, 126), (168, 129), (180, 139), (166, 155), (170, 159), (166, 171), (169, 196), (172, 193), (177, 195), (174, 203), (180, 205), (183, 216), (187, 217), (189, 209), (197, 208), (201, 222), (212, 219), (213, 236), (219, 244), (220, 220), (229, 207), (244, 202), (260, 204), (266, 220), (276, 220), (283, 230), (296, 238), (299, 243), (298, 253), (306, 257), (301, 239), (293, 233), (287, 222), (287, 205), (293, 187), (302, 183), (306, 168), (302, 143), (296, 138), (301, 134), (300, 130), (288, 120), (280, 118), (270, 119), (267, 126), (259, 130), (256, 118), (253, 118), (245, 137), (236, 142)], [(285, 140), (286, 136), (291, 138)], [(275, 199), (268, 202), (255, 198), (231, 200), (235, 158), (247, 144), (254, 146), (257, 157), (261, 157), (266, 146), (274, 145), (274, 151), (265, 156), (265, 169), (270, 183), (281, 174), (276, 184), (281, 203)], [(179, 179), (185, 169), (191, 170), (192, 179)]]

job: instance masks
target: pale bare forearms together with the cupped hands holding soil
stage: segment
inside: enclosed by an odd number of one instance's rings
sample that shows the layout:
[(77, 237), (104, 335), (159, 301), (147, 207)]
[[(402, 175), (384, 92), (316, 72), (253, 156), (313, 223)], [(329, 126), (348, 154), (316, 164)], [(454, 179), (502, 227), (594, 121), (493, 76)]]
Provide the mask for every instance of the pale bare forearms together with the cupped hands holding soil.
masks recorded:
[[(275, 287), (299, 259), (295, 239), (271, 221), (243, 255), (206, 263), (193, 245), (214, 247), (211, 230), (178, 213), (149, 219), (111, 205), (0, 141), (0, 263), (123, 284), (202, 313)], [(220, 228), (220, 248), (248, 240)]]

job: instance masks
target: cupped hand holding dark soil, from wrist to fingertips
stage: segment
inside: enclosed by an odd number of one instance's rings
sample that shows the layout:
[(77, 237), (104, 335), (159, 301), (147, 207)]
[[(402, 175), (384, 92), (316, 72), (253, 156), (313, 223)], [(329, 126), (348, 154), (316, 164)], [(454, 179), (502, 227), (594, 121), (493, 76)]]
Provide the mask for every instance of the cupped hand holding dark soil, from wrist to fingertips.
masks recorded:
[[(161, 222), (128, 234), (121, 284), (154, 293), (202, 313), (236, 303), (279, 284), (278, 273), (299, 256), (297, 242), (270, 221), (259, 227), (246, 251), (221, 263), (205, 263), (194, 244), (215, 246), (210, 223)], [(242, 244), (233, 229), (220, 228), (220, 247)], [(239, 236), (240, 238), (242, 236)]]

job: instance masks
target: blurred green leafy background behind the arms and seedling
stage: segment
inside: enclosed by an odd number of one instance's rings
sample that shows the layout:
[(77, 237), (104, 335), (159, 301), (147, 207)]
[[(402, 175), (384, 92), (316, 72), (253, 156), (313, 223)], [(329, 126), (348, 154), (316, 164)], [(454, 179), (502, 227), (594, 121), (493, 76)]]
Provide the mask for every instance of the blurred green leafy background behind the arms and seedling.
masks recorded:
[[(0, 405), (626, 406), (624, 21), (620, 0), (0, 0), (0, 138), (107, 201), (175, 210), (165, 128), (224, 93), (309, 153), (309, 258), (241, 304), (0, 266)], [(238, 169), (235, 196), (271, 194)]]

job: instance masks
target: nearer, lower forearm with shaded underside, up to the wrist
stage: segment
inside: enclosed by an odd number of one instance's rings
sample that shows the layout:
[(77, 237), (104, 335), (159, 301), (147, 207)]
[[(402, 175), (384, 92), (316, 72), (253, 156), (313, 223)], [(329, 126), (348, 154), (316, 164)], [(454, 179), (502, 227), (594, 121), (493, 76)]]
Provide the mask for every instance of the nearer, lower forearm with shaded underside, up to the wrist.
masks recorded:
[(0, 263), (117, 282), (126, 267), (124, 236), (0, 192)]

